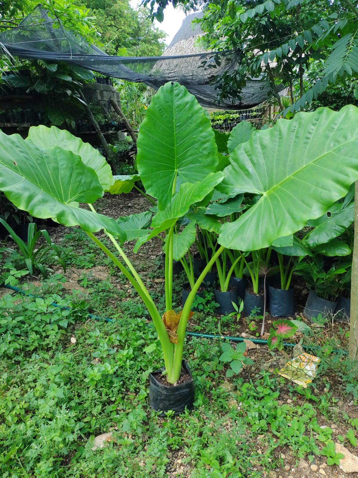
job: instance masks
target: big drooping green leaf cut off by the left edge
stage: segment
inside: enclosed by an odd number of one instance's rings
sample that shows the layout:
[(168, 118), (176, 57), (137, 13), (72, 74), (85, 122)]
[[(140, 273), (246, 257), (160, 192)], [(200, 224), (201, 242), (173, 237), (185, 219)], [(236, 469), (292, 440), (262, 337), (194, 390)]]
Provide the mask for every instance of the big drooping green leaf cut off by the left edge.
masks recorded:
[(125, 239), (114, 219), (78, 207), (102, 197), (103, 187), (95, 171), (71, 151), (42, 149), (18, 134), (0, 132), (0, 190), (34, 217), (52, 217), (87, 232), (105, 228)]

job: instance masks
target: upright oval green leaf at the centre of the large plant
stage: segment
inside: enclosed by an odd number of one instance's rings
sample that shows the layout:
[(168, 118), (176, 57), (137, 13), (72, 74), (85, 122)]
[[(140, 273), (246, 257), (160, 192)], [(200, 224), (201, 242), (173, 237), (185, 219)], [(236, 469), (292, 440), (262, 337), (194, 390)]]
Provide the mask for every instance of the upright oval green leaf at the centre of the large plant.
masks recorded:
[(193, 183), (216, 172), (218, 148), (210, 120), (185, 87), (169, 82), (158, 92), (139, 127), (137, 168), (147, 194), (164, 209), (177, 177)]

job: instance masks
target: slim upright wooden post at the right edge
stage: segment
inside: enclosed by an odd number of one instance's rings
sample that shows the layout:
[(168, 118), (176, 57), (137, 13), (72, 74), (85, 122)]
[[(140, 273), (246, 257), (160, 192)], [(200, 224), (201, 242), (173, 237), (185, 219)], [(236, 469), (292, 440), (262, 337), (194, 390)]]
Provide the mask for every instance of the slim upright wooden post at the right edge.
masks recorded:
[(352, 260), (352, 280), (350, 289), (350, 329), (349, 357), (354, 360), (358, 355), (358, 181), (354, 194), (354, 247)]

